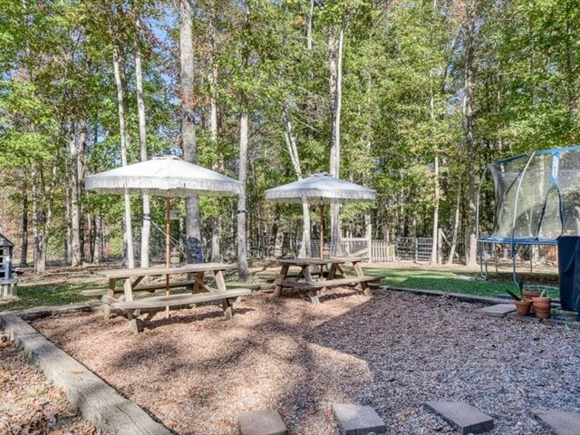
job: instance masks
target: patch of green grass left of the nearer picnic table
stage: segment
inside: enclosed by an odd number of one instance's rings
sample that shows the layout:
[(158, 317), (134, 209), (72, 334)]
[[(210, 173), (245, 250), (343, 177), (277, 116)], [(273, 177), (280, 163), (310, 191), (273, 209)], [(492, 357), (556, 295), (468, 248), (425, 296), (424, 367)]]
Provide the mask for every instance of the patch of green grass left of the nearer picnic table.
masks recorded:
[(0, 300), (0, 310), (15, 311), (38, 306), (79, 304), (89, 300), (81, 295), (81, 291), (92, 288), (95, 285), (18, 285), (18, 296)]

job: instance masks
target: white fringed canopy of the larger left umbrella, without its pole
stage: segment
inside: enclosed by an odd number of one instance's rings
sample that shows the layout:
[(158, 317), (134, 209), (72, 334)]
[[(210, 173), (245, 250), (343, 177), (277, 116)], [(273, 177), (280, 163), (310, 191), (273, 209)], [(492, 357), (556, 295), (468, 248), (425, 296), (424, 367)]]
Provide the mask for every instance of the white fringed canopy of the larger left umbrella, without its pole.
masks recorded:
[(176, 156), (107, 170), (86, 178), (85, 188), (102, 193), (139, 193), (165, 198), (194, 195), (229, 195), (242, 192), (242, 183), (210, 169), (183, 161)]

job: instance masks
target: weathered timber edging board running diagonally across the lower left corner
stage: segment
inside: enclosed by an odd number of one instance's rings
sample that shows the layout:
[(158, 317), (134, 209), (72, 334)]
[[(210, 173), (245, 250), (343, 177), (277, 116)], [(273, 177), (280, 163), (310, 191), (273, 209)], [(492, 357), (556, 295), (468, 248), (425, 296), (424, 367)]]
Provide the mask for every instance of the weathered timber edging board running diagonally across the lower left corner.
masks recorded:
[(132, 401), (125, 399), (81, 362), (50, 342), (42, 333), (14, 314), (0, 316), (0, 324), (31, 362), (64, 390), (68, 400), (99, 433), (108, 435), (170, 435), (171, 430), (153, 420)]

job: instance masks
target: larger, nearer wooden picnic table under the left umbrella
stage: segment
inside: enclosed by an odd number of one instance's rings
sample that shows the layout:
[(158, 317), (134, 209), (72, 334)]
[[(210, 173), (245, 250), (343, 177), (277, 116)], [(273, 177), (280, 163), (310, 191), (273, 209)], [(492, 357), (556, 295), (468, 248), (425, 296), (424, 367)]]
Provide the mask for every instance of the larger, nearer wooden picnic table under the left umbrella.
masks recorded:
[[(236, 265), (223, 263), (198, 263), (194, 265), (180, 267), (140, 267), (136, 269), (113, 269), (95, 271), (95, 275), (100, 275), (109, 280), (107, 290), (102, 295), (103, 315), (105, 319), (111, 316), (111, 309), (120, 309), (127, 313), (131, 332), (137, 333), (136, 312), (159, 311), (163, 307), (169, 306), (189, 306), (198, 302), (210, 300), (222, 300), (224, 314), (226, 318), (231, 318), (234, 314), (232, 298), (239, 295), (247, 295), (250, 290), (247, 288), (227, 290), (224, 272), (236, 269)], [(211, 273), (216, 287), (210, 287), (207, 282), (207, 274)], [(175, 275), (188, 275), (188, 280), (171, 281)], [(148, 276), (165, 276), (164, 282), (141, 284)], [(117, 288), (117, 283), (122, 282), (122, 293)], [(170, 288), (186, 287), (189, 294), (169, 295)], [(164, 296), (150, 296), (135, 299), (133, 296), (137, 292), (154, 292), (165, 289)], [(115, 294), (121, 294), (115, 297)]]

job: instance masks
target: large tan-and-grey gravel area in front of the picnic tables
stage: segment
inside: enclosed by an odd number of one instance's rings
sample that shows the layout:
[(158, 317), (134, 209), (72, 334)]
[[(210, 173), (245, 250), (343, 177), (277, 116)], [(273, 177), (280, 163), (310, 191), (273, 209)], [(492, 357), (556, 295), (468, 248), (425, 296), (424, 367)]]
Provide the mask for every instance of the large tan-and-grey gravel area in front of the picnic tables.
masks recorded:
[(183, 435), (235, 434), (239, 411), (256, 409), (279, 411), (293, 434), (335, 434), (333, 401), (412, 435), (453, 433), (425, 401), (467, 401), (497, 435), (546, 434), (531, 408), (580, 412), (580, 330), (389, 290), (321, 299), (251, 295), (230, 322), (215, 305), (157, 314), (138, 336), (98, 313), (34, 326)]

